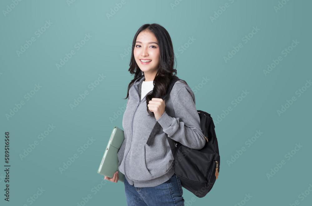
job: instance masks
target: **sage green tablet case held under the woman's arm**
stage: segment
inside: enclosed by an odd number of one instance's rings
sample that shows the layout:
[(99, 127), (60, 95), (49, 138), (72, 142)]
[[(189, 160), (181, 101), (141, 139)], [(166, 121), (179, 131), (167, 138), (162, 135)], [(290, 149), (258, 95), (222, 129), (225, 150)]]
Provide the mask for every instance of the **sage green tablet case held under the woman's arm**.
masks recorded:
[[(119, 160), (118, 160), (118, 156), (117, 156), (119, 148), (124, 141), (124, 131), (121, 130), (120, 128), (118, 128), (117, 126), (114, 126), (113, 130), (115, 128), (116, 128), (116, 132), (115, 132), (114, 136), (112, 137), (112, 141), (110, 144), (108, 141), (108, 144), (105, 148), (106, 156), (104, 153), (102, 161), (101, 161), (99, 169), (98, 169), (98, 173), (105, 175), (109, 178), (112, 178), (114, 176), (115, 172), (118, 170), (118, 174), (119, 174), (119, 180), (118, 181), (124, 182), (124, 174), (122, 174), (118, 169)], [(112, 133), (110, 134), (110, 137), (113, 134), (113, 130), (112, 130)], [(105, 157), (105, 159), (104, 159), (104, 157)], [(102, 168), (100, 169), (101, 164), (103, 164), (103, 165), (102, 165)]]

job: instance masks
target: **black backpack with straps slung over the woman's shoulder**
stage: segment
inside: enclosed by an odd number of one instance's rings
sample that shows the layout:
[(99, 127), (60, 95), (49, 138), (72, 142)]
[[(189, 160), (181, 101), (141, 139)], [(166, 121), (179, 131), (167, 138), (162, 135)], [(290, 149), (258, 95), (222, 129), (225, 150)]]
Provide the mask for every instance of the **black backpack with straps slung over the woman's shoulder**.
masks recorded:
[[(170, 93), (174, 83), (180, 80), (173, 76), (164, 100)], [(215, 133), (215, 125), (212, 117), (207, 112), (197, 110), (203, 134), (207, 140), (205, 146), (200, 150), (191, 149), (167, 136), (174, 157), (174, 173), (180, 178), (181, 185), (197, 197), (204, 197), (214, 185), (220, 171), (220, 155), (218, 141)], [(157, 133), (159, 123), (157, 122), (149, 135), (146, 144), (150, 145)], [(177, 143), (177, 146), (175, 143)]]

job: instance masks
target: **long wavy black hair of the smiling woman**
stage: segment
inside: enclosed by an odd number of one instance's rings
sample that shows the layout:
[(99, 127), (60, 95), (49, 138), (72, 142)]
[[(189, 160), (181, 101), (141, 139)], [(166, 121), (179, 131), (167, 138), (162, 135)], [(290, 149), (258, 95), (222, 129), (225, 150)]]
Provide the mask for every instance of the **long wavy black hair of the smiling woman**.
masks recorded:
[(127, 97), (125, 99), (128, 98), (129, 89), (131, 85), (134, 83), (134, 81), (144, 75), (142, 70), (137, 65), (133, 54), (136, 38), (139, 35), (139, 33), (144, 30), (148, 30), (154, 33), (155, 37), (157, 38), (159, 46), (159, 67), (153, 81), (154, 83), (153, 92), (146, 96), (147, 112), (149, 116), (155, 117), (154, 112), (151, 112), (147, 105), (149, 104), (149, 101), (152, 100), (152, 98), (162, 98), (166, 94), (166, 90), (170, 84), (172, 77), (177, 75), (177, 70), (173, 68), (174, 61), (176, 61), (176, 57), (174, 56), (170, 35), (164, 27), (156, 23), (144, 24), (143, 26), (141, 26), (134, 35), (132, 42), (132, 52), (129, 64), (130, 68), (128, 71), (130, 72), (130, 74), (134, 74), (134, 78), (132, 81), (130, 81), (128, 85)]

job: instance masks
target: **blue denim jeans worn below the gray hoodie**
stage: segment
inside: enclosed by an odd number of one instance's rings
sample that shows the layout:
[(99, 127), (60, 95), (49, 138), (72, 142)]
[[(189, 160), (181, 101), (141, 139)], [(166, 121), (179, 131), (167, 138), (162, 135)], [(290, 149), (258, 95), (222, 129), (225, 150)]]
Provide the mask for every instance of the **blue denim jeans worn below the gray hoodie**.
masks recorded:
[(124, 178), (124, 191), (128, 206), (184, 206), (181, 180), (176, 174), (173, 174), (168, 181), (155, 187), (134, 187)]

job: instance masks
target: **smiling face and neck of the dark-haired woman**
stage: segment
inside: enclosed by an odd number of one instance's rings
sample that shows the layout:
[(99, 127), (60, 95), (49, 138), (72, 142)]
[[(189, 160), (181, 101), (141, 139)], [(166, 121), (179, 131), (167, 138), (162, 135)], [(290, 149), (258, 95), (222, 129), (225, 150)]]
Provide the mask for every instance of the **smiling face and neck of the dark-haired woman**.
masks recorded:
[(154, 79), (159, 66), (159, 47), (155, 35), (148, 30), (140, 32), (133, 54), (139, 68), (144, 72), (145, 81)]

